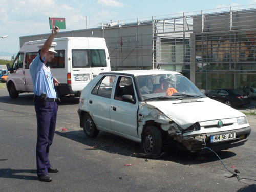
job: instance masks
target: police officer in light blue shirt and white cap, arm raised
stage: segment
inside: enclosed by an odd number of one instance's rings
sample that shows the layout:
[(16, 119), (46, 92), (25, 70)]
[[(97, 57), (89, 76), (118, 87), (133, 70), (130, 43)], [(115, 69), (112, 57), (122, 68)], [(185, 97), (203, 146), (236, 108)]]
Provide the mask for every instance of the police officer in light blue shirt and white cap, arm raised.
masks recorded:
[(52, 30), (50, 37), (42, 45), (37, 57), (32, 61), (29, 71), (33, 81), (33, 92), (35, 94), (34, 105), (37, 119), (37, 143), (36, 143), (36, 168), (40, 181), (52, 181), (48, 173), (59, 171), (53, 168), (48, 159), (50, 146), (53, 141), (55, 125), (57, 119), (58, 105), (57, 95), (54, 86), (59, 82), (50, 71), (50, 62), (54, 58), (56, 43), (54, 37), (59, 32), (59, 28)]

